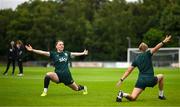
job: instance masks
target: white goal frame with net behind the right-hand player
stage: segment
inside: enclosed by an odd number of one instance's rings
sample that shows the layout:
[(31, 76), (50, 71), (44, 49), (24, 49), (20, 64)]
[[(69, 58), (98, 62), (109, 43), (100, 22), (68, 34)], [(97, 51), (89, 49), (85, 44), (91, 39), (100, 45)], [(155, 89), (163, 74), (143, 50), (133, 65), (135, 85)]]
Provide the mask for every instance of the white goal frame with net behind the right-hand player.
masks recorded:
[[(127, 62), (131, 64), (134, 58), (140, 53), (138, 48), (128, 48)], [(179, 67), (180, 48), (160, 48), (152, 57), (155, 67)]]

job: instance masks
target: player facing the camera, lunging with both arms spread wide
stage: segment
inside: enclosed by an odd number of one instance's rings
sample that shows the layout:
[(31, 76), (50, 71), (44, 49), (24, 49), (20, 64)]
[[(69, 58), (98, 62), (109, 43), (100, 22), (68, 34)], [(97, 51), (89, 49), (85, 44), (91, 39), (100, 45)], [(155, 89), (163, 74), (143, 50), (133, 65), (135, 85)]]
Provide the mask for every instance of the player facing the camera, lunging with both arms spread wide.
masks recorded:
[(48, 72), (44, 77), (44, 91), (41, 96), (47, 95), (50, 80), (57, 84), (64, 83), (75, 91), (83, 90), (83, 94), (88, 94), (86, 86), (78, 85), (74, 82), (68, 66), (70, 56), (88, 55), (88, 50), (85, 49), (83, 52), (64, 51), (64, 42), (62, 40), (56, 42), (56, 51), (36, 50), (31, 45), (26, 45), (25, 47), (28, 51), (50, 57), (55, 66), (55, 71)]

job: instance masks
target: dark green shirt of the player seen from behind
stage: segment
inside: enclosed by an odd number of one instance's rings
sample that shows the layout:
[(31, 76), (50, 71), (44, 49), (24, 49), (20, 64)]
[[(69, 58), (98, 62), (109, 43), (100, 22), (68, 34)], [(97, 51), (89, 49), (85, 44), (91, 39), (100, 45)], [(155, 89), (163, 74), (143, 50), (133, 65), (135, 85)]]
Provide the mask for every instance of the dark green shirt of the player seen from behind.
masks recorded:
[(154, 76), (154, 70), (152, 65), (152, 53), (150, 50), (139, 54), (132, 62), (133, 67), (138, 67), (139, 75)]

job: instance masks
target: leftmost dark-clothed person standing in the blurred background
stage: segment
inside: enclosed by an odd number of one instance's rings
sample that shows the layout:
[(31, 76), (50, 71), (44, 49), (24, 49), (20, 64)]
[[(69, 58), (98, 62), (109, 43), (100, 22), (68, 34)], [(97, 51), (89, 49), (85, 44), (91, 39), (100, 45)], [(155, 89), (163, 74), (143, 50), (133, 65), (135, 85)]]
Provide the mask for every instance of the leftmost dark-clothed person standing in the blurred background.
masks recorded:
[(8, 75), (8, 70), (10, 67), (10, 64), (12, 63), (13, 69), (12, 69), (12, 76), (14, 75), (15, 71), (15, 60), (16, 60), (16, 50), (15, 50), (15, 43), (14, 41), (10, 42), (10, 46), (8, 49), (8, 62), (7, 62), (7, 67), (6, 71), (3, 73), (3, 75)]

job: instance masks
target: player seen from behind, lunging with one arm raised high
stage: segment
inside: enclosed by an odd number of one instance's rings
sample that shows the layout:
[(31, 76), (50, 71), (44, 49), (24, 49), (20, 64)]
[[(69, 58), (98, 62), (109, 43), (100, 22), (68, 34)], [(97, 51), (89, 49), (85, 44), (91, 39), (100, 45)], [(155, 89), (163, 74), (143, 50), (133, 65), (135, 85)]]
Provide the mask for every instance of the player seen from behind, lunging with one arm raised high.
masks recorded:
[(156, 53), (164, 44), (171, 40), (171, 36), (166, 36), (166, 38), (157, 44), (154, 48), (148, 50), (148, 45), (145, 43), (141, 43), (139, 45), (140, 53), (135, 60), (132, 62), (131, 66), (125, 71), (123, 76), (117, 83), (117, 87), (121, 86), (122, 82), (128, 77), (128, 75), (134, 70), (135, 67), (139, 69), (139, 76), (136, 82), (136, 85), (131, 94), (124, 93), (123, 91), (119, 91), (118, 96), (116, 98), (117, 102), (121, 102), (122, 98), (125, 97), (130, 101), (134, 101), (138, 98), (138, 96), (143, 92), (146, 87), (154, 87), (158, 84), (159, 87), (159, 96), (158, 98), (161, 100), (165, 100), (165, 96), (163, 94), (163, 74), (158, 74), (154, 76), (154, 70), (152, 65), (152, 56)]

